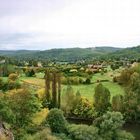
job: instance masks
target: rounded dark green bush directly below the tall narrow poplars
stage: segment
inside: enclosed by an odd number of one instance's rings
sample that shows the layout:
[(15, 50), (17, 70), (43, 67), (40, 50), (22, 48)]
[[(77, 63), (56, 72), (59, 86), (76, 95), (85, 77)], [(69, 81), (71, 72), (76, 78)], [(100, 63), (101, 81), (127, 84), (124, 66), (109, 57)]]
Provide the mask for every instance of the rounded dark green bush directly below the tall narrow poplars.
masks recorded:
[(61, 133), (66, 130), (66, 120), (63, 112), (59, 109), (51, 109), (47, 116), (47, 124), (49, 124), (52, 132)]

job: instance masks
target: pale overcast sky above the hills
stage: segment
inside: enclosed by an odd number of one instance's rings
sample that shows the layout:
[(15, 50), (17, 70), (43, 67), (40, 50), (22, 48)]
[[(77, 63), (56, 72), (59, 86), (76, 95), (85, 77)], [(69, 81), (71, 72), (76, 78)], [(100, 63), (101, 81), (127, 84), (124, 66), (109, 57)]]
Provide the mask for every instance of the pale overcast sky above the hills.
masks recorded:
[(0, 49), (140, 45), (140, 0), (0, 0)]

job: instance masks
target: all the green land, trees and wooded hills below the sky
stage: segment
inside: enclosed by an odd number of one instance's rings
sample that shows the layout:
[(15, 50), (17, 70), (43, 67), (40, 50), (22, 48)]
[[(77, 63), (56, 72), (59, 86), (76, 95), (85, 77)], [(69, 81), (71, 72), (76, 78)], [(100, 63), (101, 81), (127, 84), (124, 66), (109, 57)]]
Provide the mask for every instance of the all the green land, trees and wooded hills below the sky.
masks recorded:
[(124, 130), (140, 122), (139, 54), (128, 56), (136, 50), (3, 52), (13, 58), (0, 57), (0, 139), (138, 138)]

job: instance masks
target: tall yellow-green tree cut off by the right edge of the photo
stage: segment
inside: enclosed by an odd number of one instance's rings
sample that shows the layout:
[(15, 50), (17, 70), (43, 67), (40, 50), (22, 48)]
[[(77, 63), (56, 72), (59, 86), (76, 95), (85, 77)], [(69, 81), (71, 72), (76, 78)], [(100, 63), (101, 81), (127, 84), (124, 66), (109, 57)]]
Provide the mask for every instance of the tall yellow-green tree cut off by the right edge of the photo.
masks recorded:
[[(136, 69), (137, 70), (137, 69)], [(136, 71), (135, 70), (135, 71)], [(138, 71), (138, 70), (137, 70)], [(130, 76), (129, 85), (125, 87), (123, 97), (123, 114), (127, 121), (140, 119), (140, 73), (134, 72)]]

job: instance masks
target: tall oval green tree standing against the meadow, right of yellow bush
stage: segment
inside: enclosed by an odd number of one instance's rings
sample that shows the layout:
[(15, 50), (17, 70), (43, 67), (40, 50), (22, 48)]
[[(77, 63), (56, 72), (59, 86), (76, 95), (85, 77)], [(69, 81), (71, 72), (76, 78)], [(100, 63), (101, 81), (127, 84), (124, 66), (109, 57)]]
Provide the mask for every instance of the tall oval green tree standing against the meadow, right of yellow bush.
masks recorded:
[(101, 83), (99, 83), (95, 87), (94, 94), (94, 107), (98, 114), (103, 114), (108, 110), (110, 106), (110, 92), (104, 87)]

